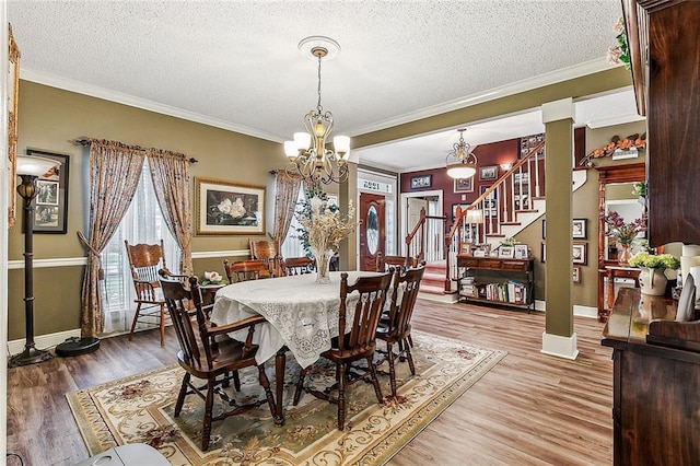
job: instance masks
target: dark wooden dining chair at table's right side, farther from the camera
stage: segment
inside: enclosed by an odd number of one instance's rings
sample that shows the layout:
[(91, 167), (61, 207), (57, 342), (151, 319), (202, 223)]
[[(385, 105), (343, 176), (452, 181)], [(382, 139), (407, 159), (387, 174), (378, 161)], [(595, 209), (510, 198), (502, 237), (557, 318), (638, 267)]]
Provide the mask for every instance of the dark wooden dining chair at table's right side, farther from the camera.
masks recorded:
[[(410, 268), (401, 273), (399, 269), (394, 272), (394, 286), (392, 287), (392, 298), (388, 315), (380, 319), (376, 329), (376, 337), (386, 341), (386, 352), (383, 359), (376, 362), (376, 365), (388, 360), (389, 363), (389, 381), (392, 384), (392, 396), (396, 398), (396, 369), (395, 360), (408, 360), (408, 366), (411, 375), (416, 375), (416, 365), (411, 354), (411, 315), (418, 299), (418, 290), (420, 281), (423, 278), (424, 267)], [(398, 353), (394, 353), (394, 345), (398, 345)], [(383, 353), (381, 349), (377, 352)]]

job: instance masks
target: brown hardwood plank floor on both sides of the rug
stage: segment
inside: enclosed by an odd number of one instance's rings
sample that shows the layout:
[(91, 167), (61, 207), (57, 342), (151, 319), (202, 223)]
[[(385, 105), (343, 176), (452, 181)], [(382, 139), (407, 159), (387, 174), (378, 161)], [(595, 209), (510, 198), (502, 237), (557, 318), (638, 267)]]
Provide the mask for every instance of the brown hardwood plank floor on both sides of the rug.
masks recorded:
[[(539, 352), (542, 313), (419, 300), (413, 328), (509, 354), (389, 465), (612, 464), (612, 363), (600, 346), (603, 324), (575, 318), (575, 361)], [(8, 452), (36, 466), (85, 459), (65, 394), (171, 364), (172, 328), (165, 345), (158, 330), (143, 331), (133, 341), (104, 339), (91, 354), (8, 370)]]

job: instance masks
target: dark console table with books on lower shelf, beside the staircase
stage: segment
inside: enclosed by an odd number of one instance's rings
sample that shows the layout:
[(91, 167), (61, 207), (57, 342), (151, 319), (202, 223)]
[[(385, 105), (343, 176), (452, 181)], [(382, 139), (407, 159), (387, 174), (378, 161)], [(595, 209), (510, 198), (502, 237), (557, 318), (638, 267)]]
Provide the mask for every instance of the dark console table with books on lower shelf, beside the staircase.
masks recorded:
[(459, 300), (535, 310), (535, 260), (457, 256)]

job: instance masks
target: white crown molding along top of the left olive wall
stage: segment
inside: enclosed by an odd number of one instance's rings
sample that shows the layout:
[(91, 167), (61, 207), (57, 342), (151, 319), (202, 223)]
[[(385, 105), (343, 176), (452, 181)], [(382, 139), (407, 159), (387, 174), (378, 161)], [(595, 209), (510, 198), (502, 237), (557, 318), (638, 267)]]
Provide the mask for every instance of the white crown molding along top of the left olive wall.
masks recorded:
[(56, 74), (36, 71), (31, 68), (22, 68), (20, 78), (25, 81), (32, 81), (37, 84), (48, 85), (50, 88), (61, 89), (63, 91), (75, 92), (78, 94), (89, 95), (91, 97), (102, 98), (104, 101), (115, 102), (117, 104), (128, 105), (135, 108), (141, 108), (156, 114), (167, 115), (188, 121), (200, 123), (202, 125), (221, 128), (229, 131), (240, 132), (242, 135), (252, 136), (254, 138), (265, 139), (272, 142), (283, 142), (279, 136), (271, 132), (259, 131), (245, 126), (234, 125), (218, 118), (211, 118), (206, 115), (196, 114), (194, 112), (184, 110), (170, 105), (159, 104), (158, 102), (147, 98), (136, 97), (117, 91), (112, 91), (97, 85), (86, 84), (84, 82), (61, 78)]

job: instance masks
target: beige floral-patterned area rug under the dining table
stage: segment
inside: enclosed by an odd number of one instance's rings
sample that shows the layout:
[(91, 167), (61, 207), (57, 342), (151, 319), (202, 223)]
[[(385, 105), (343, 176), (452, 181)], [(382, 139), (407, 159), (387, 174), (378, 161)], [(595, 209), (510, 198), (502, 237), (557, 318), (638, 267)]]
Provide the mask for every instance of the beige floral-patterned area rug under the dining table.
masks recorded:
[[(207, 452), (199, 448), (201, 399), (188, 396), (180, 416), (173, 416), (184, 373), (178, 365), (66, 396), (91, 455), (127, 443), (148, 443), (173, 465), (382, 465), (506, 354), (417, 331), (413, 343), (416, 375), (411, 376), (407, 362), (397, 361), (400, 386), (396, 399), (389, 396), (386, 362), (378, 368), (385, 372), (380, 374), (384, 404), (377, 403), (372, 384), (359, 382), (349, 387), (345, 431), (336, 428), (336, 405), (310, 394), (299, 406), (291, 405), (299, 375), (299, 364), (291, 354), (285, 373), (284, 426), (275, 427), (264, 405), (214, 422)], [(335, 368), (320, 365), (315, 365), (307, 382), (317, 387), (331, 385)], [(243, 389), (235, 396), (261, 398), (257, 370), (249, 369), (241, 373)], [(273, 384), (273, 368), (267, 373)]]

